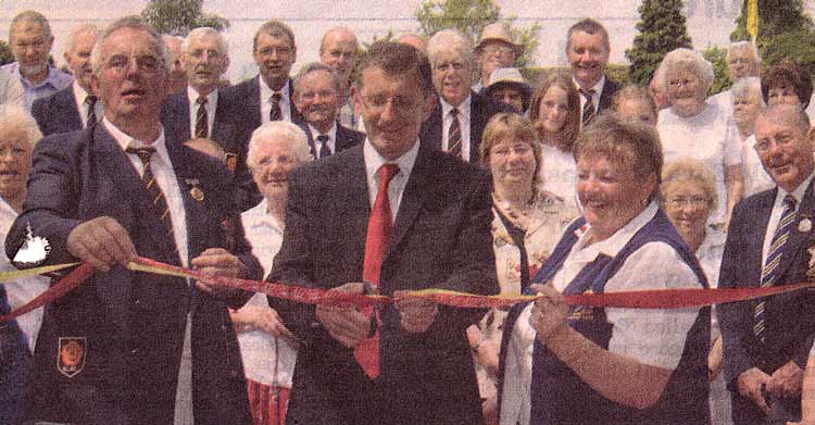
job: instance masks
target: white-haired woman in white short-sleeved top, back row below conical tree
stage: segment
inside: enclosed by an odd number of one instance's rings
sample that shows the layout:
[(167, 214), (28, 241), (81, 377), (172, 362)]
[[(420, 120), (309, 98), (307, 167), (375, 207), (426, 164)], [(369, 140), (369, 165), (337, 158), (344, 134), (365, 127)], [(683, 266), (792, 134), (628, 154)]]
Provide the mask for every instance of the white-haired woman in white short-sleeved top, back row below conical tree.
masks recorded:
[(743, 193), (739, 130), (724, 108), (706, 100), (713, 65), (701, 54), (676, 49), (662, 66), (670, 108), (660, 111), (656, 129), (665, 161), (691, 158), (713, 171), (719, 207), (711, 212), (711, 224), (725, 228)]

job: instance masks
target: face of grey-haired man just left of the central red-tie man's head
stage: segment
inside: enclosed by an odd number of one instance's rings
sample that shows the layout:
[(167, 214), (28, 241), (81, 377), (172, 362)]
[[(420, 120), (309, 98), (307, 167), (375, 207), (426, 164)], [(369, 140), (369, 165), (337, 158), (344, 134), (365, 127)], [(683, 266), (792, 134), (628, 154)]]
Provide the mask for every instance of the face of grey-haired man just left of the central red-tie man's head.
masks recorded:
[(294, 105), (309, 124), (323, 129), (337, 118), (338, 95), (331, 75), (314, 71), (298, 79)]

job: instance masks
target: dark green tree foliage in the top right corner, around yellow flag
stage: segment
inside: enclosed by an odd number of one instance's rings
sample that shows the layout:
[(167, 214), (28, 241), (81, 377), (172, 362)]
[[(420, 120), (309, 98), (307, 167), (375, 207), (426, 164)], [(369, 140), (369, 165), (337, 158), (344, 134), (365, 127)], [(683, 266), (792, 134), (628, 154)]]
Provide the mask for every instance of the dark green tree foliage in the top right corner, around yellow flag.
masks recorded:
[[(730, 40), (749, 40), (747, 0), (736, 18)], [(804, 10), (803, 0), (758, 0), (758, 37), (756, 45), (765, 66), (789, 59), (815, 73), (815, 24)]]

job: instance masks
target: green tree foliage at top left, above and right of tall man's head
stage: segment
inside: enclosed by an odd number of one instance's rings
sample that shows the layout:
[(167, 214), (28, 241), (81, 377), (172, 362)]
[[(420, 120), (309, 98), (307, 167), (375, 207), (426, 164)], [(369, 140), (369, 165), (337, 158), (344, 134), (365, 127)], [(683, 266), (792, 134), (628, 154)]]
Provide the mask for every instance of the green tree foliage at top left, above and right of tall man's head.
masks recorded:
[(161, 34), (186, 36), (191, 29), (210, 26), (217, 30), (229, 27), (225, 17), (203, 13), (203, 0), (150, 0), (141, 16)]

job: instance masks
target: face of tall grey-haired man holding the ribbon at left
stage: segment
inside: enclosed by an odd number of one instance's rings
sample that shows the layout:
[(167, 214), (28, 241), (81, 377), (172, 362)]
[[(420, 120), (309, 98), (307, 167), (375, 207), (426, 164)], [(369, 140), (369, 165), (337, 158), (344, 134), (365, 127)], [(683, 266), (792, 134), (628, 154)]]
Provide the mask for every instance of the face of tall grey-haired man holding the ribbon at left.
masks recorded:
[(159, 47), (146, 32), (121, 28), (101, 46), (101, 68), (91, 87), (104, 115), (117, 127), (158, 121), (166, 96), (166, 71)]

